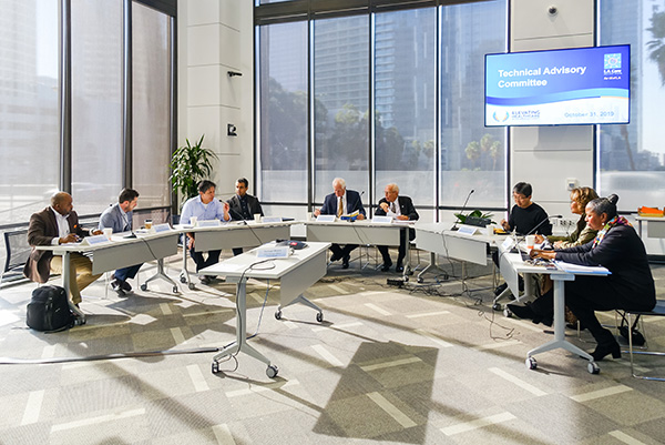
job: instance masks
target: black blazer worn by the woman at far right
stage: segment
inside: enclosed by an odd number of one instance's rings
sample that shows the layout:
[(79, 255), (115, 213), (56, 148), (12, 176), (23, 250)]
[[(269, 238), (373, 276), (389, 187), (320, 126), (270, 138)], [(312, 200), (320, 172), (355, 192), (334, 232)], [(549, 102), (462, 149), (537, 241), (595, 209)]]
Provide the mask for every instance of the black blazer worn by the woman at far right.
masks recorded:
[[(603, 280), (610, 283), (611, 292), (630, 301), (632, 307), (625, 309), (651, 311), (656, 304), (656, 289), (646, 250), (635, 230), (628, 225), (610, 229), (595, 247), (591, 242), (556, 251), (556, 260), (607, 267), (612, 275)], [(590, 287), (584, 291), (592, 293), (597, 292), (597, 289)]]

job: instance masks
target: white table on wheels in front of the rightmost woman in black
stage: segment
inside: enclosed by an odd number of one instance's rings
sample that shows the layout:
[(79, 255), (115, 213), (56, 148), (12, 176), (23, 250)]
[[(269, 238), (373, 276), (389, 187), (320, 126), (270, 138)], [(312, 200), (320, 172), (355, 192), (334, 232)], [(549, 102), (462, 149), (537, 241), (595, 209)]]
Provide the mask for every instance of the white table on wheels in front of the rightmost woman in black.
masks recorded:
[[(580, 355), (583, 358), (589, 361), (587, 370), (592, 374), (597, 374), (601, 372), (598, 365), (594, 362), (591, 354), (575, 346), (565, 340), (565, 282), (574, 281), (575, 275), (606, 275), (608, 272), (604, 267), (590, 267), (594, 272), (566, 272), (557, 266), (557, 269), (546, 269), (543, 266), (536, 266), (525, 263), (522, 260), (520, 253), (510, 253), (500, 244), (499, 246), (499, 265), (501, 269), (501, 274), (505, 279), (511, 289), (518, 290), (518, 274), (524, 274), (524, 283), (528, 285), (531, 280), (529, 279), (530, 274), (549, 274), (554, 284), (554, 338), (550, 342), (542, 344), (539, 347), (535, 347), (526, 353), (526, 367), (530, 370), (535, 370), (538, 367), (538, 363), (533, 355), (540, 354), (546, 351), (552, 351), (556, 348), (563, 348), (573, 354)], [(514, 286), (514, 287), (513, 287)], [(525, 293), (529, 294), (530, 289), (526, 289)], [(519, 293), (515, 293), (519, 295)]]

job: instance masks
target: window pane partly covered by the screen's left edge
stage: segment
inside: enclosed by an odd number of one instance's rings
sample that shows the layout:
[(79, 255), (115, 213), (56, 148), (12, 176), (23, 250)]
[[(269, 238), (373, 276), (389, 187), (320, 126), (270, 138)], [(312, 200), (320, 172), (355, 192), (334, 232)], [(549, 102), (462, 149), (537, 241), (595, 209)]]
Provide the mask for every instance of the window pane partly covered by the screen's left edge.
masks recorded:
[(442, 205), (473, 208), (505, 201), (505, 130), (484, 128), (484, 54), (505, 51), (505, 1), (442, 8)]

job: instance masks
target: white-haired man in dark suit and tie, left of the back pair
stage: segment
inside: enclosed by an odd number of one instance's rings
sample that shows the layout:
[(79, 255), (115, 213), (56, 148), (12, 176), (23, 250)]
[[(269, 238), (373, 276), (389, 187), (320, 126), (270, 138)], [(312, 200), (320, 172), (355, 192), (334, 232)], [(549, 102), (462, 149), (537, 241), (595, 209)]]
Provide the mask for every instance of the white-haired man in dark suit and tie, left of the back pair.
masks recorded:
[[(347, 190), (346, 181), (341, 178), (335, 178), (332, 180), (334, 193), (330, 193), (324, 200), (324, 205), (320, 209), (314, 211), (314, 215), (337, 215), (354, 213), (358, 211), (358, 220), (365, 220), (365, 209), (362, 208), (362, 201), (360, 194), (354, 190)], [(341, 269), (349, 269), (350, 253), (356, 249), (358, 244), (347, 244), (344, 249), (339, 244), (332, 244), (330, 250), (332, 256), (330, 261), (341, 260)]]

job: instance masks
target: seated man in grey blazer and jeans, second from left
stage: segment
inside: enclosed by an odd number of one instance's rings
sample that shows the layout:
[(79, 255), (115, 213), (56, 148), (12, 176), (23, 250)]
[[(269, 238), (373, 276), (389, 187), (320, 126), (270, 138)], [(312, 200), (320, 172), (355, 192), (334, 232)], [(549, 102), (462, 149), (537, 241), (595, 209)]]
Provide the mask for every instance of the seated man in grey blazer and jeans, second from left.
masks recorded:
[[(113, 233), (132, 231), (132, 211), (139, 202), (139, 192), (132, 189), (123, 189), (117, 196), (117, 202), (104, 210), (100, 219), (100, 230), (113, 229)], [(115, 271), (111, 281), (111, 287), (120, 296), (132, 292), (132, 286), (126, 282), (139, 273), (143, 263), (122, 267)]]

